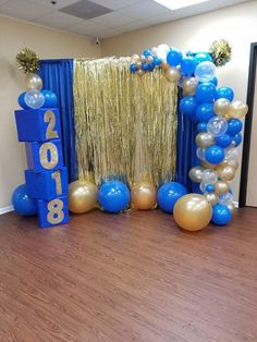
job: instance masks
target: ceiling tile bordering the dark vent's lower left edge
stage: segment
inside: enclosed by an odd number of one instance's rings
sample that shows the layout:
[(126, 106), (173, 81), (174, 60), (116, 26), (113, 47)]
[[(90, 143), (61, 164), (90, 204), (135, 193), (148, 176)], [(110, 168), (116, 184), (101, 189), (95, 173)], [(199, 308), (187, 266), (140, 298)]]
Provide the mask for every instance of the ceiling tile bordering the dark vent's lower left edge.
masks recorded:
[(35, 20), (34, 22), (50, 27), (64, 28), (78, 24), (82, 22), (82, 19), (54, 11), (48, 15)]

